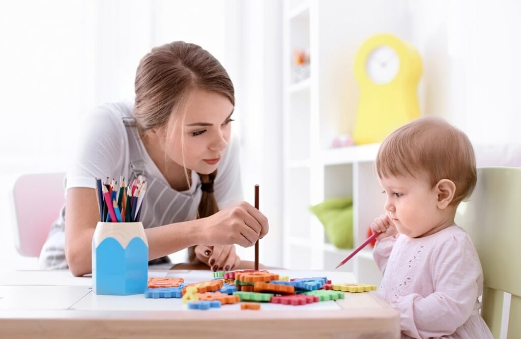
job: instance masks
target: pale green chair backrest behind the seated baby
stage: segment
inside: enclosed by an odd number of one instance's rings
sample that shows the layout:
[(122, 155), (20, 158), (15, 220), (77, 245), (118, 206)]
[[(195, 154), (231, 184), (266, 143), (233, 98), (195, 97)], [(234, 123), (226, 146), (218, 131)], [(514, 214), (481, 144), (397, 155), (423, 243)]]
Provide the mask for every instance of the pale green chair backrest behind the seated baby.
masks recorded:
[(521, 168), (478, 169), (476, 188), (456, 213), (468, 232), (483, 267), (481, 316), (500, 337), (503, 292), (512, 294), (508, 338), (521, 333)]

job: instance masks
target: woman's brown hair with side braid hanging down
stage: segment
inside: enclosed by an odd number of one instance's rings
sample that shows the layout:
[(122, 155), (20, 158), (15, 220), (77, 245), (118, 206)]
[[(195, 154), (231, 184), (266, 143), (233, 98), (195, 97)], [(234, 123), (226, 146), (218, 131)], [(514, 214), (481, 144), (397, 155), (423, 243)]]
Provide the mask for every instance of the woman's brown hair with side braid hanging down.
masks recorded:
[[(176, 121), (184, 121), (186, 112), (181, 108), (188, 103), (194, 89), (222, 94), (235, 105), (228, 73), (201, 46), (175, 41), (153, 48), (141, 59), (135, 76), (134, 117), (141, 132), (167, 128)], [(170, 130), (167, 129), (167, 138), (171, 136)], [(184, 134), (181, 133), (182, 145)], [(203, 190), (197, 208), (199, 218), (209, 217), (219, 210), (213, 194), (216, 175), (217, 170), (210, 174), (199, 173)], [(188, 174), (187, 182), (190, 182)], [(193, 248), (190, 252), (192, 261)]]

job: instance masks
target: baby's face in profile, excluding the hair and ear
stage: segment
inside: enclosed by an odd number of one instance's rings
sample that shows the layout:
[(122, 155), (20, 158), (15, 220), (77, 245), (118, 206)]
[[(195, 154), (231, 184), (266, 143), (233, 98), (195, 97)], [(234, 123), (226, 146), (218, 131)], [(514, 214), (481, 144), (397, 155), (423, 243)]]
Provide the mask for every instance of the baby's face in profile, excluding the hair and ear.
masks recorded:
[(396, 229), (407, 236), (419, 237), (439, 225), (438, 194), (426, 175), (378, 178), (386, 194), (384, 208)]

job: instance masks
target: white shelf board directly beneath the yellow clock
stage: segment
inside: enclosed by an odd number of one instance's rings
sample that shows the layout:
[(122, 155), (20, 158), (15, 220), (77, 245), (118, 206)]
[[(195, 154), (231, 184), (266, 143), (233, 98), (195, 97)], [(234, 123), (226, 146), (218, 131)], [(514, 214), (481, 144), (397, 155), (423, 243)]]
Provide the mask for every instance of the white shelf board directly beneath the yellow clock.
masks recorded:
[(331, 148), (322, 151), (321, 156), (325, 166), (370, 162), (376, 159), (378, 148), (380, 144)]

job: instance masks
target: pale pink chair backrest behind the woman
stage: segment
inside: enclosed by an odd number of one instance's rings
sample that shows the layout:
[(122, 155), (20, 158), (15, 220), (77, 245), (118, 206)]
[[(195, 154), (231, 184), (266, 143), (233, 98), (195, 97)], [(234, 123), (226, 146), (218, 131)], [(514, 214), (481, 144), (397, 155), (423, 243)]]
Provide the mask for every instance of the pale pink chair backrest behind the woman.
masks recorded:
[(24, 174), (13, 186), (15, 246), (23, 256), (38, 257), (53, 222), (65, 204), (65, 173)]

